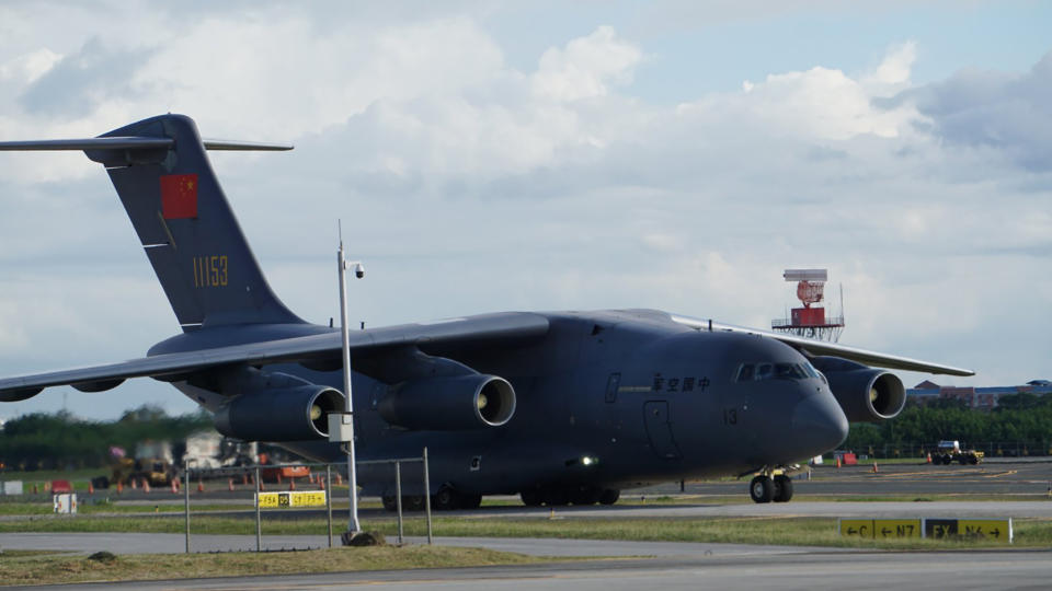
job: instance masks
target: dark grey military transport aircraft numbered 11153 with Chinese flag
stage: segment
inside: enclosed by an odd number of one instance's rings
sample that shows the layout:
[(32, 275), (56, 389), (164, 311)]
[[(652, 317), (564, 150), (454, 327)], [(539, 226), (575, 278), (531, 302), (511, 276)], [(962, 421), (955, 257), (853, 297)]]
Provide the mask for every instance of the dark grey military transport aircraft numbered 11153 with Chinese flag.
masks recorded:
[[(11, 141), (0, 150), (83, 150), (105, 166), (182, 334), (117, 363), (0, 380), (0, 401), (68, 384), (170, 382), (235, 438), (345, 457), (327, 439), (342, 412), (341, 333), (308, 324), (271, 290), (206, 150), (278, 150), (202, 140), (161, 115), (98, 138)], [(438, 508), (483, 495), (526, 505), (613, 503), (660, 482), (746, 476), (756, 502), (788, 501), (785, 471), (827, 452), (848, 421), (893, 418), (902, 382), (881, 368), (972, 375), (948, 366), (655, 310), (508, 312), (351, 334), (359, 460), (427, 447)], [(866, 363), (866, 364), (864, 364)], [(358, 471), (365, 494), (393, 479)], [(403, 479), (410, 503), (422, 485)]]

